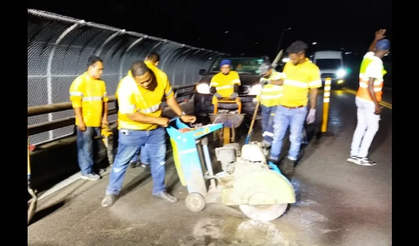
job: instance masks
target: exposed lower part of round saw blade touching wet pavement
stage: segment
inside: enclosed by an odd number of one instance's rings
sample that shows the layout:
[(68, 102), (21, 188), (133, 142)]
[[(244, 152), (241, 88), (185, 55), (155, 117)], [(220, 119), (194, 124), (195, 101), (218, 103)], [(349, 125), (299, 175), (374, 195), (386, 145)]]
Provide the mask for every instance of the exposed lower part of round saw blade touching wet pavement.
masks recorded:
[(271, 221), (281, 216), (285, 212), (287, 206), (287, 203), (282, 203), (260, 206), (239, 205), (239, 208), (244, 215), (253, 220)]

